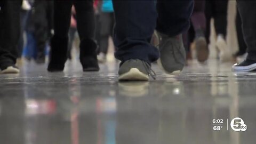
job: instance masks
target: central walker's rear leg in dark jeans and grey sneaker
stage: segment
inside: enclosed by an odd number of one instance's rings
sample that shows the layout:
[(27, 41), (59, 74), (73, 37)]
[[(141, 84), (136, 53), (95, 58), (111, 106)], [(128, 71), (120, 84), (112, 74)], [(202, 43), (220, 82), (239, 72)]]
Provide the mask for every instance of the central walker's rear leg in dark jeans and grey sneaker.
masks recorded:
[(157, 1), (158, 64), (168, 74), (179, 74), (186, 64), (181, 34), (190, 26), (194, 1)]

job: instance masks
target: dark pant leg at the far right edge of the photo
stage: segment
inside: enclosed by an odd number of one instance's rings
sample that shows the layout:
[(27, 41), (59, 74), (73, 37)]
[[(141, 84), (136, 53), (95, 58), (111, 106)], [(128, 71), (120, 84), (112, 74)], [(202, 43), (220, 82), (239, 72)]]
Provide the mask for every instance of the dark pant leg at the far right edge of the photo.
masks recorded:
[(256, 1), (237, 1), (242, 20), (244, 41), (247, 45), (247, 59), (256, 60)]

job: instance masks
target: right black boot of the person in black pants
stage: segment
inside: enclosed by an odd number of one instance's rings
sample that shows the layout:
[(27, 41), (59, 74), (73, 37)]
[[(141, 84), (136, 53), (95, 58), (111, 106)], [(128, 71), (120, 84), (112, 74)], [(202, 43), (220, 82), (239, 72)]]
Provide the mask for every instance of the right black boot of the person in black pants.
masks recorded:
[(92, 39), (82, 39), (80, 43), (80, 62), (83, 71), (100, 70), (97, 59), (97, 44)]

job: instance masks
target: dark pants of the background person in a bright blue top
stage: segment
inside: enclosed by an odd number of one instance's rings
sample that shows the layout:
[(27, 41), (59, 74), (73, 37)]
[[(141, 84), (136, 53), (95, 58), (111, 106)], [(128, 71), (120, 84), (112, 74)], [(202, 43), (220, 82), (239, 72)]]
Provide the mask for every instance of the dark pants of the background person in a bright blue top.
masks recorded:
[(108, 52), (108, 38), (113, 35), (113, 28), (115, 24), (115, 18), (113, 12), (101, 12), (100, 13), (100, 52), (107, 54)]

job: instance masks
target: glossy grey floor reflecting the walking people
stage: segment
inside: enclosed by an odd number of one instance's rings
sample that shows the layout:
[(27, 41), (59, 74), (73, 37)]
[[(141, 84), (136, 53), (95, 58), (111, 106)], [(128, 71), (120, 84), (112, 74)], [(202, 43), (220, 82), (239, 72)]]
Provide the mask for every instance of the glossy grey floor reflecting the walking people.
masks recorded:
[[(0, 75), (0, 143), (255, 144), (256, 74), (230, 66), (193, 61), (169, 76), (154, 65), (155, 81), (119, 83), (116, 63), (99, 73), (24, 63), (21, 74)], [(235, 117), (247, 131), (231, 129)], [(220, 131), (213, 119), (223, 119)]]

